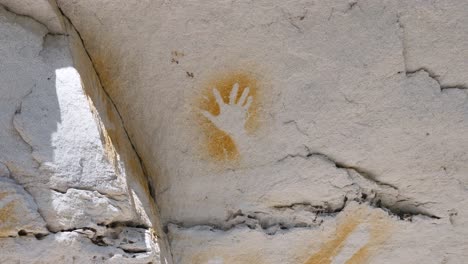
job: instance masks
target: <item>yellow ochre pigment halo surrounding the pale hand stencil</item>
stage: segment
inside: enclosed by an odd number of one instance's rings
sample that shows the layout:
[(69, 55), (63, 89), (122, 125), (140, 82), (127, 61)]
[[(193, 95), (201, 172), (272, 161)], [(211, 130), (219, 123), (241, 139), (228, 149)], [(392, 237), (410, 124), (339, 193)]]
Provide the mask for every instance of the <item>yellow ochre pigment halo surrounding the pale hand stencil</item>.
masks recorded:
[[(234, 139), (218, 129), (206, 117), (200, 114), (200, 110), (208, 111), (213, 115), (219, 115), (219, 106), (213, 95), (213, 89), (216, 88), (224, 102), (229, 102), (229, 94), (234, 84), (239, 85), (237, 100), (246, 87), (249, 87), (249, 96), (252, 96), (252, 104), (248, 110), (248, 118), (245, 124), (247, 134), (252, 134), (258, 128), (258, 112), (260, 106), (259, 81), (252, 73), (244, 71), (233, 71), (221, 74), (211, 81), (207, 82), (203, 88), (201, 96), (197, 102), (198, 119), (205, 135), (203, 143), (209, 156), (216, 161), (236, 161), (240, 158), (238, 147)], [(236, 101), (237, 101), (236, 100)]]

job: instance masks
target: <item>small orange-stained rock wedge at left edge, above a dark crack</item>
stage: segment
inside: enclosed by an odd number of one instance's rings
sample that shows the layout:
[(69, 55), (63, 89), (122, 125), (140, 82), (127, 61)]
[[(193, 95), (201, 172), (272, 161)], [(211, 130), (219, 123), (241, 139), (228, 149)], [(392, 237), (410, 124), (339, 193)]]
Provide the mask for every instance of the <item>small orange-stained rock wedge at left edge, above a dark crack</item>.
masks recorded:
[(49, 231), (30, 194), (12, 179), (0, 177), (0, 237), (45, 235)]

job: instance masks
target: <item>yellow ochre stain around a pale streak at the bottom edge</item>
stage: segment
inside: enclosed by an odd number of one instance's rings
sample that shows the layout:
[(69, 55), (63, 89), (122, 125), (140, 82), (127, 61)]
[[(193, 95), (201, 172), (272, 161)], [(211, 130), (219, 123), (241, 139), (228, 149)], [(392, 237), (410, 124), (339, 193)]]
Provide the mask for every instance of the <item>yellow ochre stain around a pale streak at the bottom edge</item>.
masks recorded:
[(362, 210), (358, 210), (349, 215), (337, 227), (334, 238), (325, 242), (318, 252), (312, 255), (304, 264), (331, 264), (333, 259), (340, 253), (345, 246), (347, 238), (356, 230), (361, 223), (370, 225), (369, 241), (362, 246), (345, 264), (363, 264), (367, 263), (371, 248), (383, 243), (389, 235), (390, 225), (382, 217), (372, 215), (365, 221)]

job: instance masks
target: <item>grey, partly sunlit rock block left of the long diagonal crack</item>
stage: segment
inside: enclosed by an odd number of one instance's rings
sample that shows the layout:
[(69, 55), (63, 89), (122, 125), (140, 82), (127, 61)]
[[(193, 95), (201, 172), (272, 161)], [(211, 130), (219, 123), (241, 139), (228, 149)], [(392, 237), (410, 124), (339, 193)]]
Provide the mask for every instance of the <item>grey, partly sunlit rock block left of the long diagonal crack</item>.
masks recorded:
[(0, 262), (158, 261), (142, 169), (116, 151), (131, 144), (77, 33), (0, 6), (0, 36)]

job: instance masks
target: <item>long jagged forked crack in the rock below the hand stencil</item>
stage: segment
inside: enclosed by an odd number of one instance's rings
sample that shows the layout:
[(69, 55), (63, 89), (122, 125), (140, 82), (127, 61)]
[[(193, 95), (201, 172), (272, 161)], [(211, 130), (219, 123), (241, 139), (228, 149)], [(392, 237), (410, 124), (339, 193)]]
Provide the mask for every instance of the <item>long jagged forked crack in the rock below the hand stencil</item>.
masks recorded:
[(420, 208), (427, 203), (420, 203), (402, 195), (397, 186), (378, 180), (378, 177), (368, 170), (346, 165), (335, 161), (328, 155), (312, 152), (308, 148), (306, 149), (308, 151), (306, 154), (288, 154), (277, 162), (283, 162), (286, 159), (292, 158), (320, 158), (327, 163), (333, 164), (339, 170), (345, 170), (352, 184), (343, 188), (345, 195), (340, 204), (332, 205), (327, 201), (322, 202), (322, 204), (299, 202), (275, 205), (265, 212), (242, 212), (242, 210), (238, 210), (230, 212), (229, 216), (222, 223), (169, 221), (164, 227), (164, 231), (166, 233), (169, 232), (169, 226), (177, 226), (179, 228), (204, 226), (209, 227), (211, 230), (220, 231), (247, 227), (249, 229), (261, 230), (268, 235), (275, 235), (281, 230), (319, 227), (327, 218), (336, 217), (348, 206), (349, 202), (357, 202), (373, 208), (379, 208), (389, 216), (401, 221), (412, 222), (415, 216), (422, 219), (441, 219), (441, 217)]

